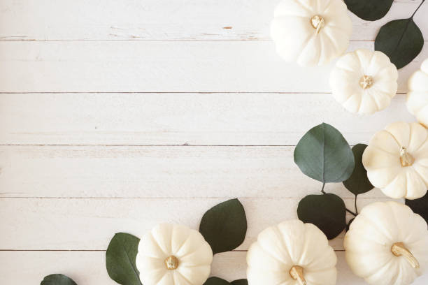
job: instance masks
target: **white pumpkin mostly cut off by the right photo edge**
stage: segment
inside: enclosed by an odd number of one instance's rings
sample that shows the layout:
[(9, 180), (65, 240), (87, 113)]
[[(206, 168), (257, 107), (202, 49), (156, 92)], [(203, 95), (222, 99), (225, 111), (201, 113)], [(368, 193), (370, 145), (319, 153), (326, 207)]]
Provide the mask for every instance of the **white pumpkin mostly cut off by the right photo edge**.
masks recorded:
[(428, 59), (408, 80), (407, 108), (420, 124), (428, 127)]

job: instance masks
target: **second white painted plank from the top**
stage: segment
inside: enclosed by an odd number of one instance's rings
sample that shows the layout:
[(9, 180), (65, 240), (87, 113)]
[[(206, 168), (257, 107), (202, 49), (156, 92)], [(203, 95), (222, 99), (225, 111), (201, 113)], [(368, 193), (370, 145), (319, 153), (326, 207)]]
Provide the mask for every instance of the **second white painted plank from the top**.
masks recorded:
[[(399, 92), (427, 57), (401, 69)], [(0, 92), (328, 93), (330, 70), (285, 64), (270, 41), (0, 42)]]

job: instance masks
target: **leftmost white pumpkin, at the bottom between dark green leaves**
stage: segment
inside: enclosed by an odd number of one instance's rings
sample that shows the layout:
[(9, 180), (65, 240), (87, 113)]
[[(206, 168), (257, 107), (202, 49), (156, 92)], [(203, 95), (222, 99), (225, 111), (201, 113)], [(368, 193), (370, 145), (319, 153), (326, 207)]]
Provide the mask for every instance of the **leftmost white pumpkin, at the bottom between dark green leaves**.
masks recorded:
[(198, 231), (161, 224), (138, 244), (136, 267), (144, 285), (202, 285), (213, 251)]

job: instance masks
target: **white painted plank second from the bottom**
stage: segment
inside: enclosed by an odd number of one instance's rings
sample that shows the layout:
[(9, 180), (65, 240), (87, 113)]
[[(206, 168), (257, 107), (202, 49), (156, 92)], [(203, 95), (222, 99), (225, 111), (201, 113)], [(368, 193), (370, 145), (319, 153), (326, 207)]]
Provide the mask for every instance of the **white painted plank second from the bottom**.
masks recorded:
[[(224, 199), (38, 199), (0, 198), (0, 249), (103, 250), (114, 233), (142, 237), (160, 223), (199, 228), (204, 213)], [(238, 250), (248, 249), (264, 229), (287, 219), (297, 219), (300, 199), (240, 198), (248, 220), (248, 232)], [(345, 198), (352, 210), (354, 199)], [(373, 201), (361, 198), (359, 207)], [(350, 217), (348, 217), (350, 218)], [(343, 249), (343, 233), (331, 240)]]

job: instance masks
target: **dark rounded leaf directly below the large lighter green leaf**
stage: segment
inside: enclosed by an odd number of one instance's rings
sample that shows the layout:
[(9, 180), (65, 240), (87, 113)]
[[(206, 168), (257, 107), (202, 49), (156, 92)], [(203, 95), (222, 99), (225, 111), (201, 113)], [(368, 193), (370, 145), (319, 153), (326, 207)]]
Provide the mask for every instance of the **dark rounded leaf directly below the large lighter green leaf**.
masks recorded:
[(297, 215), (304, 223), (318, 226), (329, 240), (336, 238), (346, 227), (346, 208), (334, 194), (309, 195), (301, 199)]

